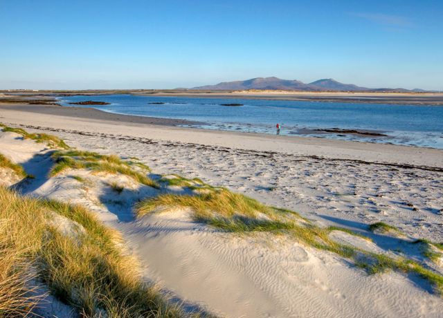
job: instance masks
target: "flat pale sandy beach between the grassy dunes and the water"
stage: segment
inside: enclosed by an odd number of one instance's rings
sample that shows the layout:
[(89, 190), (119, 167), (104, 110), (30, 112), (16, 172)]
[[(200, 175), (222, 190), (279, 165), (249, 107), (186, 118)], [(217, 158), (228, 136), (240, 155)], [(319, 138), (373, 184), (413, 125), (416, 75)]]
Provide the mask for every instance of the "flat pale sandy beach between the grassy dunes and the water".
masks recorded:
[(443, 201), (437, 190), (442, 149), (44, 115), (1, 106), (0, 115), (9, 126), (55, 134), (78, 149), (134, 156), (157, 173), (197, 176), (322, 224), (361, 228), (382, 221), (408, 235), (442, 241)]

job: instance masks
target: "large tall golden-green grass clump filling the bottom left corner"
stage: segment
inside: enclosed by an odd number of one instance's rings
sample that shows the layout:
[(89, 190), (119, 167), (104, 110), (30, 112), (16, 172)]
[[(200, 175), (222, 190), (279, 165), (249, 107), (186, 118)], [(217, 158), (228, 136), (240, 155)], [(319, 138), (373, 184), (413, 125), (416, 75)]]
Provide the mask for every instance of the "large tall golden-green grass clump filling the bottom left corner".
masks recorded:
[[(49, 222), (49, 211), (75, 221), (82, 230), (75, 235), (60, 232)], [(87, 209), (22, 197), (0, 187), (0, 219), (7, 225), (7, 231), (0, 228), (0, 252), (7, 248), (11, 255), (0, 258), (0, 316), (17, 312), (22, 317), (36, 303), (26, 289), (28, 266), (21, 264), (32, 264), (33, 281), (82, 317), (184, 316), (159, 290), (141, 281), (138, 263), (122, 250), (118, 232)], [(17, 259), (13, 266), (8, 265), (11, 259)]]

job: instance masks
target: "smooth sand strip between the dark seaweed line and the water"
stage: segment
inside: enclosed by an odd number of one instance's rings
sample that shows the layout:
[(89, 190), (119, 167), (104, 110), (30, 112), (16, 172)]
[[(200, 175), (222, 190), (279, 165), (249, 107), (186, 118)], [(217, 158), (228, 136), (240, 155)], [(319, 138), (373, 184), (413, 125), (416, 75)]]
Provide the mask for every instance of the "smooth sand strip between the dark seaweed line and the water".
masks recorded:
[(190, 124), (189, 121), (120, 115), (81, 107), (0, 104), (0, 116), (0, 122), (6, 120), (8, 124), (39, 127), (39, 129), (66, 129), (63, 122), (69, 122), (73, 127), (77, 125), (79, 128), (84, 128), (85, 132), (100, 131), (100, 133), (134, 138), (150, 136), (152, 139), (163, 141), (205, 144), (247, 151), (443, 167), (443, 149), (298, 135), (184, 128), (177, 125)]

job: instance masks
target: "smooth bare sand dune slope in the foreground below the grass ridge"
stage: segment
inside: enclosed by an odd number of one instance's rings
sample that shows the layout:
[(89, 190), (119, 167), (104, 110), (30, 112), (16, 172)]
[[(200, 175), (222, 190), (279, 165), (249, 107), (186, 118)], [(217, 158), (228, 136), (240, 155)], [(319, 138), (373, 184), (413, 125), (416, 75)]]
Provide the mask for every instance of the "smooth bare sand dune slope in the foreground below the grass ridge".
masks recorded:
[(233, 237), (196, 225), (183, 211), (128, 227), (121, 225), (134, 251), (147, 260), (147, 277), (222, 316), (441, 314), (440, 299), (400, 274), (368, 276), (341, 258), (284, 238)]

